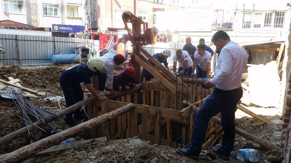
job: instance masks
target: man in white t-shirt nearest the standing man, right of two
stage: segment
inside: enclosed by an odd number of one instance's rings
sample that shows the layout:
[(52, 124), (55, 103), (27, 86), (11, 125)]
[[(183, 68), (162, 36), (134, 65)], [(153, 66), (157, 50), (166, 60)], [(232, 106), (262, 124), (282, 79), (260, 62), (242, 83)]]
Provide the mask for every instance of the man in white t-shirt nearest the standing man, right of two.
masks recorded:
[[(197, 62), (199, 64), (196, 66), (196, 75), (198, 78), (203, 77), (203, 83), (205, 83), (205, 80), (208, 79), (210, 72), (211, 54), (205, 50), (204, 44), (197, 45), (197, 51), (194, 53), (193, 64), (196, 65)], [(195, 75), (195, 73), (192, 75)]]

